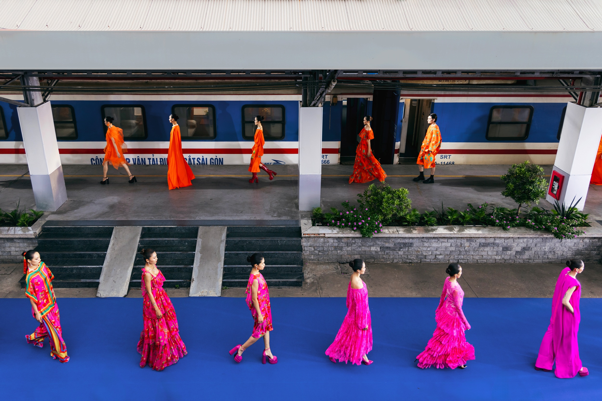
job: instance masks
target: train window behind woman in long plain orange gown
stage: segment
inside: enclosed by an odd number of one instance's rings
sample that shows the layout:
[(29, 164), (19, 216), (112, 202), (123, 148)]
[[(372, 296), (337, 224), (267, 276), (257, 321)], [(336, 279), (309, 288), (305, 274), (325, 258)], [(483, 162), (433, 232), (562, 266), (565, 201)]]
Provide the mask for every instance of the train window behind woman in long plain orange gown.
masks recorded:
[(216, 109), (211, 105), (174, 105), (182, 139), (216, 139)]

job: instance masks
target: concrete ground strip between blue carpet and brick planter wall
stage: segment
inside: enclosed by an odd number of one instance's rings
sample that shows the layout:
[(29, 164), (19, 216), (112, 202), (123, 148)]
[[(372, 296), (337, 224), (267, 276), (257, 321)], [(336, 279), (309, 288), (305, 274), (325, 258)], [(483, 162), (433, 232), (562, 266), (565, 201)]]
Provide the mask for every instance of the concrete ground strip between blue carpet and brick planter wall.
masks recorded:
[[(551, 298), (564, 266), (556, 264), (462, 263), (465, 296), (478, 298)], [(441, 288), (447, 263), (371, 263), (362, 278), (371, 297), (435, 297)], [(338, 263), (306, 263), (300, 288), (270, 288), (272, 297), (346, 296), (352, 270)], [(20, 289), (22, 265), (0, 265), (0, 298), (24, 298)], [(602, 264), (586, 263), (578, 276), (583, 298), (602, 298)], [(244, 288), (222, 290), (222, 296), (244, 297)], [(93, 298), (96, 289), (55, 289), (58, 298)], [(188, 289), (167, 289), (171, 297), (188, 296)], [(140, 298), (131, 289), (128, 298)]]

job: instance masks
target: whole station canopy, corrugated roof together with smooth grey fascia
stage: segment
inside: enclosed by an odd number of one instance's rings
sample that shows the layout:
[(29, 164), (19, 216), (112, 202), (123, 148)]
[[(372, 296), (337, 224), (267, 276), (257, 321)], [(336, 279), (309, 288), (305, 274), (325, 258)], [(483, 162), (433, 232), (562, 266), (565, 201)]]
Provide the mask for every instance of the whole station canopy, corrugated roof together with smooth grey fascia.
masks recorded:
[(0, 71), (602, 70), (599, 0), (0, 0)]

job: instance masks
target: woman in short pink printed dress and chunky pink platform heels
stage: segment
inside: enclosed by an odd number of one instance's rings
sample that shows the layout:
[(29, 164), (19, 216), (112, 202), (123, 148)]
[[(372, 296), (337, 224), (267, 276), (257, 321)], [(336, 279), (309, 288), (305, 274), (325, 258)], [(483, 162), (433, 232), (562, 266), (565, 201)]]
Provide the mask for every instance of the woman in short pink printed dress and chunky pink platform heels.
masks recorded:
[(255, 344), (259, 338), (264, 338), (264, 352), (262, 363), (267, 360), (270, 364), (278, 363), (278, 357), (272, 355), (270, 350), (270, 331), (272, 327), (272, 307), (270, 306), (270, 292), (267, 289), (265, 278), (261, 271), (265, 268), (265, 259), (261, 254), (252, 254), (247, 257), (247, 262), (252, 266), (247, 283), (247, 306), (253, 316), (253, 332), (249, 340), (244, 344), (238, 344), (230, 350), (230, 355), (234, 355), (234, 360), (240, 363), (243, 360), (243, 352), (248, 347)]

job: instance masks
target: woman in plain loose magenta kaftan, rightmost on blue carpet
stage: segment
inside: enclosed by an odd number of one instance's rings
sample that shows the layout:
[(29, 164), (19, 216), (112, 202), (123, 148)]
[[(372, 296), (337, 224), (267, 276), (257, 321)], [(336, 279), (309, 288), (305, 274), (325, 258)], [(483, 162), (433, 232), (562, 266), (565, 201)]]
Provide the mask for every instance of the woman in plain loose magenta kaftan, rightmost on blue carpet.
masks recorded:
[(576, 277), (583, 272), (585, 265), (580, 259), (571, 259), (566, 261), (566, 266), (556, 281), (550, 325), (541, 341), (535, 362), (536, 370), (550, 372), (556, 361), (554, 374), (561, 379), (574, 378), (577, 373), (579, 376), (589, 375), (588, 369), (581, 364), (577, 342), (581, 320), (581, 284)]

